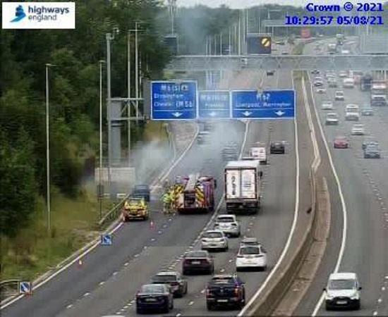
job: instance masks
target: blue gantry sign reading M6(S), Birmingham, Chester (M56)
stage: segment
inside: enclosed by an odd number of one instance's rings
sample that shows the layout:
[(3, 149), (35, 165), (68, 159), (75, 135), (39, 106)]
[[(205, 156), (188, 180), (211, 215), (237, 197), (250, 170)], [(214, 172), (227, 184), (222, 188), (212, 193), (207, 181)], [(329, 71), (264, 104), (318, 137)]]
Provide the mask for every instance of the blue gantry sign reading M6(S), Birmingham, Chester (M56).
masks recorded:
[(188, 120), (197, 117), (197, 82), (151, 82), (151, 119)]

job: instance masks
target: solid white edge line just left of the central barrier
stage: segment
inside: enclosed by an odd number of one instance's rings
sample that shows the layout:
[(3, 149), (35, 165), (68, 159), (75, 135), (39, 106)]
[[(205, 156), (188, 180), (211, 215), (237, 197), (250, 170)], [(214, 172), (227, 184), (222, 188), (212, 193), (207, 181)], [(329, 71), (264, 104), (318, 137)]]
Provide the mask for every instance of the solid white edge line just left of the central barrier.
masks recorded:
[[(293, 76), (291, 77), (291, 80), (293, 81)], [(293, 83), (292, 83), (292, 85), (293, 85), (293, 87), (295, 87), (295, 85)], [(274, 268), (272, 269), (271, 272), (269, 272), (269, 274), (267, 275), (267, 278), (265, 278), (265, 281), (262, 282), (262, 285), (260, 286), (260, 288), (257, 290), (257, 292), (255, 292), (255, 294), (253, 294), (253, 297), (250, 298), (248, 304), (246, 304), (244, 306), (244, 308), (238, 313), (237, 316), (245, 316), (246, 315), (250, 306), (253, 305), (253, 303), (256, 301), (257, 297), (259, 297), (260, 294), (262, 293), (262, 290), (264, 290), (265, 287), (267, 286), (269, 280), (271, 280), (274, 273), (278, 270), (281, 261), (283, 261), (284, 256), (286, 256), (286, 252), (289, 250), (289, 246), (291, 244), (291, 238), (292, 238), (293, 232), (295, 231), (295, 228), (296, 228), (296, 223), (298, 220), (298, 209), (299, 209), (299, 149), (298, 149), (299, 147), (298, 147), (298, 125), (296, 122), (296, 118), (293, 119), (293, 125), (295, 127), (294, 137), (295, 137), (295, 156), (296, 156), (296, 191), (295, 191), (295, 209), (293, 211), (293, 222), (291, 225), (291, 230), (289, 232), (289, 237), (287, 237), (286, 245), (284, 246), (284, 249), (281, 251), (279, 259), (277, 260), (277, 263), (275, 264)]]

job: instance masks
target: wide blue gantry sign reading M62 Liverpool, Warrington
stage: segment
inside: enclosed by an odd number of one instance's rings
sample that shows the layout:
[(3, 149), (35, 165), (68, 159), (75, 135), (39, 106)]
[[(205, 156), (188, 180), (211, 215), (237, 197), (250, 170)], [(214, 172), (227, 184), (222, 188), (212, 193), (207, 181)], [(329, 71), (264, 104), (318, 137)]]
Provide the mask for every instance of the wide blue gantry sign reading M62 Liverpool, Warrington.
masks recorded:
[(231, 92), (232, 118), (290, 119), (295, 117), (294, 90)]

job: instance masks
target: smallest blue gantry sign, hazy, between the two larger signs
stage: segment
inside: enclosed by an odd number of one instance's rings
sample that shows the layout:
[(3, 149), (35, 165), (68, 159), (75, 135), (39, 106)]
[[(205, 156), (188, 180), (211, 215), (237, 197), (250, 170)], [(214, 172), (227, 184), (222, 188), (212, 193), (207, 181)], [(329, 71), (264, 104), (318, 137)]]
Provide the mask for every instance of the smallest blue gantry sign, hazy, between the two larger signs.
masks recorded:
[(202, 90), (198, 92), (198, 118), (230, 118), (230, 108), (230, 94), (228, 90)]

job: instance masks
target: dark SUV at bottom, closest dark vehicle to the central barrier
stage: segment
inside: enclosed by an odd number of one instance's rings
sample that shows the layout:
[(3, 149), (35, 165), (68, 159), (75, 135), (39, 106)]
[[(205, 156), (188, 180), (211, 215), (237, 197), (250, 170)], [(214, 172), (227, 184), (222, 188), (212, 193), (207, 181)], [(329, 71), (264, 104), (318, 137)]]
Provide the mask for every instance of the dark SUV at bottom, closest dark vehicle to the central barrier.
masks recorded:
[(212, 310), (217, 306), (233, 306), (242, 309), (245, 305), (244, 284), (237, 275), (214, 275), (207, 283), (206, 306)]

